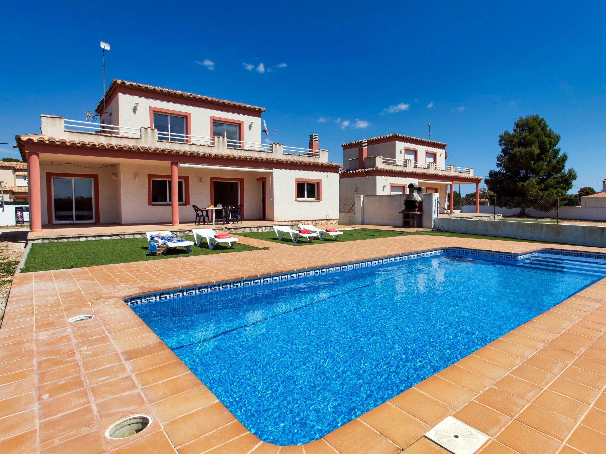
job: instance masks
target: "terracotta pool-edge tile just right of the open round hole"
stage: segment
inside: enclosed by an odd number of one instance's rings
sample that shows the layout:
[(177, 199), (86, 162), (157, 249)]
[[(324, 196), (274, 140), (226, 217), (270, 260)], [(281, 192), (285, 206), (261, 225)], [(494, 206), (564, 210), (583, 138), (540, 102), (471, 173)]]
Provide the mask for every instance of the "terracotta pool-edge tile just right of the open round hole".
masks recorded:
[(223, 404), (216, 402), (164, 423), (164, 429), (173, 444), (181, 446), (235, 420)]

